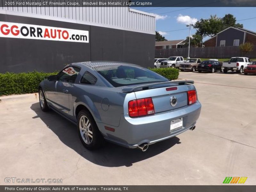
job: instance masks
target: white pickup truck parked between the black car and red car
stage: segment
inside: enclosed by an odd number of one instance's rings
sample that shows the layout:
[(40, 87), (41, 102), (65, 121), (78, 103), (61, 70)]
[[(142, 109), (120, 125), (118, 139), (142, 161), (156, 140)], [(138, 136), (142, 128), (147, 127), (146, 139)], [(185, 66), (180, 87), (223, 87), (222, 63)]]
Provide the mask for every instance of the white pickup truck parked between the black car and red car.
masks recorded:
[(232, 57), (228, 62), (223, 62), (221, 69), (224, 73), (228, 73), (228, 70), (237, 71), (243, 73), (243, 70), (251, 62), (248, 57)]

